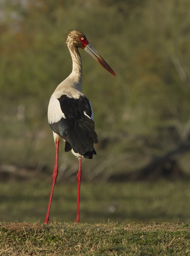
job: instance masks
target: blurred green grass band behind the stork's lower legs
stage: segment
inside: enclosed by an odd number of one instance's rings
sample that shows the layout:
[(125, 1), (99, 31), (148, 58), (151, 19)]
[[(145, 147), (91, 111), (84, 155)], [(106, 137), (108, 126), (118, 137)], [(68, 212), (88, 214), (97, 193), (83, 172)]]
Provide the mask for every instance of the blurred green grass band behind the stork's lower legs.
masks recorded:
[[(51, 180), (0, 183), (0, 221), (43, 222)], [(77, 183), (57, 182), (50, 221), (76, 219)], [(81, 184), (80, 220), (87, 223), (190, 223), (189, 182)]]

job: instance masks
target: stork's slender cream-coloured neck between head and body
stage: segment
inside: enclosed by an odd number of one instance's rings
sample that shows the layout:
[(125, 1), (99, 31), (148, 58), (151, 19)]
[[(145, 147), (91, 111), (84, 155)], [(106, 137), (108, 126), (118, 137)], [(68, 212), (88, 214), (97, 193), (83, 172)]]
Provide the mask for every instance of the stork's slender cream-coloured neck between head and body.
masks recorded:
[(74, 81), (74, 85), (76, 86), (76, 88), (82, 92), (83, 67), (82, 67), (81, 55), (79, 53), (78, 48), (76, 47), (73, 47), (73, 48), (69, 47), (69, 51), (70, 51), (72, 62), (73, 62), (73, 65), (72, 65), (73, 69), (70, 76), (72, 76), (72, 79)]

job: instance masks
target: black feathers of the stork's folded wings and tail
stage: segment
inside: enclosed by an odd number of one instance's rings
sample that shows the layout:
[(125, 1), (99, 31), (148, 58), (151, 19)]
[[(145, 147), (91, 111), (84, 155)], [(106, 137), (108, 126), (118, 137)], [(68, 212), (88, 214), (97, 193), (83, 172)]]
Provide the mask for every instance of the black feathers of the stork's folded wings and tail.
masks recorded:
[(58, 100), (66, 118), (50, 124), (51, 129), (66, 141), (65, 152), (73, 149), (75, 153), (92, 159), (93, 154), (96, 155), (94, 143), (98, 143), (98, 138), (94, 122), (89, 118), (92, 115), (89, 100), (85, 96), (74, 99), (67, 95), (62, 95)]

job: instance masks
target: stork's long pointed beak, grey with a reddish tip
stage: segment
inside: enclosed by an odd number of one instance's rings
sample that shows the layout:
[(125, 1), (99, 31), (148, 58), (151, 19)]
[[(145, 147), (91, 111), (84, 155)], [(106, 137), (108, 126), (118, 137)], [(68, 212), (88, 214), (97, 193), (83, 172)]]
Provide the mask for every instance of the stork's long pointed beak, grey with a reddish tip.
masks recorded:
[(116, 73), (109, 67), (109, 65), (107, 64), (107, 62), (105, 62), (105, 60), (102, 58), (102, 56), (100, 56), (99, 53), (97, 53), (97, 51), (94, 49), (94, 47), (88, 42), (88, 44), (86, 45), (86, 47), (84, 48), (84, 50), (90, 55), (92, 56), (92, 58), (94, 58), (98, 63), (100, 63), (100, 65), (102, 67), (104, 67), (105, 69), (107, 69), (107, 71), (109, 71), (111, 74), (116, 76)]

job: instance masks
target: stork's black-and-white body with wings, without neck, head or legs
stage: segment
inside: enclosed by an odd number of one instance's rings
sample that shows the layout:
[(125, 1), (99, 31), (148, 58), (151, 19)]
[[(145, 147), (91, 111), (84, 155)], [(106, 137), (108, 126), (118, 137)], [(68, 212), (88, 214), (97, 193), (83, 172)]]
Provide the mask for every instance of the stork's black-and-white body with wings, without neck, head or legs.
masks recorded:
[(65, 140), (65, 152), (71, 150), (75, 156), (92, 159), (96, 154), (93, 144), (98, 143), (98, 138), (91, 104), (76, 88), (61, 90), (60, 87), (51, 96), (48, 106), (54, 140)]

